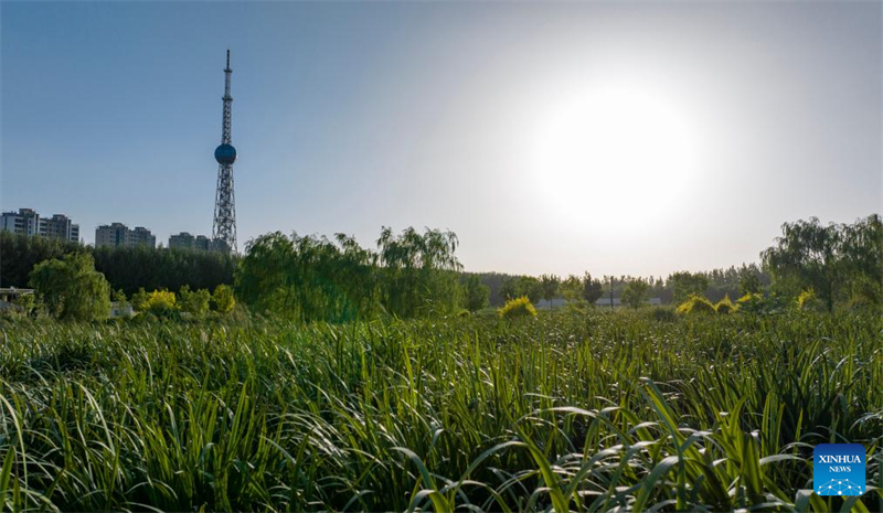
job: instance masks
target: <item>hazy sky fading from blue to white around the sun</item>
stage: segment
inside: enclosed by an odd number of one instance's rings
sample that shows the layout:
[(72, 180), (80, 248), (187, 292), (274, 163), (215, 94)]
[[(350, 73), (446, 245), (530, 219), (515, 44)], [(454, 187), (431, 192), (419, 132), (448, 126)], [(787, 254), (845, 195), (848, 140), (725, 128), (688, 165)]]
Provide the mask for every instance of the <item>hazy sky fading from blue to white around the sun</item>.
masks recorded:
[(883, 211), (879, 2), (0, 3), (0, 209), (666, 276)]

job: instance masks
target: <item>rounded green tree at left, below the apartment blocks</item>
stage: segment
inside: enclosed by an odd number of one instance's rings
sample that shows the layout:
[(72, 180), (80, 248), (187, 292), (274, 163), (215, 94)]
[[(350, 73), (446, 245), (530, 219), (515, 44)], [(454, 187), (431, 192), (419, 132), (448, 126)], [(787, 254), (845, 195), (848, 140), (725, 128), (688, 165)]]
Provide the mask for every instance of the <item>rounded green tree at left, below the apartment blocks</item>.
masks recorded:
[(58, 319), (88, 321), (110, 312), (110, 287), (88, 254), (42, 261), (31, 271), (29, 284)]

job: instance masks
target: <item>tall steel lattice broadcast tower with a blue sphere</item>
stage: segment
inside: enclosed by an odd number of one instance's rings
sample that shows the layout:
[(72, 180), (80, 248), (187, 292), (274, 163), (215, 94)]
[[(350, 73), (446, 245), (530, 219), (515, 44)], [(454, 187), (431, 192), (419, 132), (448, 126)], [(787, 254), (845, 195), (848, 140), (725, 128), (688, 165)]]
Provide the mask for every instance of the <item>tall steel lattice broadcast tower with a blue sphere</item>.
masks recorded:
[(233, 147), (232, 107), (230, 96), (230, 50), (227, 50), (227, 67), (224, 68), (224, 118), (221, 126), (221, 146), (214, 150), (217, 161), (217, 190), (214, 196), (214, 224), (212, 242), (217, 249), (236, 253), (236, 200), (233, 193), (233, 163), (236, 161), (236, 148)]

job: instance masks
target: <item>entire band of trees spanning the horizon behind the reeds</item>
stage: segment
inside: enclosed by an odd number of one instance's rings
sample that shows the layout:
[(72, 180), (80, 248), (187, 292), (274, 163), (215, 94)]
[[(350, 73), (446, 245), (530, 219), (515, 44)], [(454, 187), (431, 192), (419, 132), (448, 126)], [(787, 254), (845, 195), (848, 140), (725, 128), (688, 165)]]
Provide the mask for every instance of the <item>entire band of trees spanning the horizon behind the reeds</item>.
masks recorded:
[[(566, 278), (467, 274), (456, 257), (457, 247), (453, 232), (421, 233), (413, 227), (398, 234), (384, 227), (374, 248), (343, 234), (328, 238), (275, 232), (251, 241), (243, 257), (93, 248), (0, 233), (0, 284), (52, 292), (58, 282), (78, 277), (77, 290), (83, 293), (109, 296), (114, 290), (141, 297), (143, 290), (170, 290), (178, 291), (184, 304), (200, 308), (208, 290), (234, 285), (237, 300), (251, 310), (305, 322), (474, 312), (522, 297), (532, 303), (564, 298), (594, 304), (610, 293), (636, 307), (649, 297), (673, 304), (695, 302), (693, 298), (720, 304), (738, 298), (745, 308), (772, 298), (795, 300), (801, 307), (818, 303), (829, 311), (838, 304), (883, 304), (883, 223), (877, 214), (852, 224), (822, 225), (815, 217), (785, 223), (783, 235), (760, 253), (760, 265), (678, 271), (664, 279), (593, 277), (588, 271)], [(106, 288), (91, 270), (106, 280)]]

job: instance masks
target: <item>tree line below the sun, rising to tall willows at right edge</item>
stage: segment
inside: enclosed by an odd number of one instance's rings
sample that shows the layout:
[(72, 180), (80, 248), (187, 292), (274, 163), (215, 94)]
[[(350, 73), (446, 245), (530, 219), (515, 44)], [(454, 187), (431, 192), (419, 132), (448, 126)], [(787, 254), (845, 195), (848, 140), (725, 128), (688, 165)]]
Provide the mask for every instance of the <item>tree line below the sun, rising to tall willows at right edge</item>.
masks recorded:
[(571, 275), (540, 277), (489, 272), (480, 276), (490, 285), (491, 304), (501, 306), (526, 296), (532, 302), (564, 298), (570, 302), (594, 303), (608, 295), (623, 303), (639, 306), (650, 297), (662, 303), (683, 304), (692, 297), (710, 303), (728, 303), (753, 296), (773, 302), (815, 298), (823, 309), (883, 306), (883, 223), (879, 214), (854, 223), (822, 225), (818, 218), (785, 223), (783, 235), (760, 253), (760, 264), (743, 264), (711, 271), (677, 271), (664, 279), (650, 276)]

